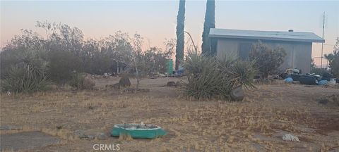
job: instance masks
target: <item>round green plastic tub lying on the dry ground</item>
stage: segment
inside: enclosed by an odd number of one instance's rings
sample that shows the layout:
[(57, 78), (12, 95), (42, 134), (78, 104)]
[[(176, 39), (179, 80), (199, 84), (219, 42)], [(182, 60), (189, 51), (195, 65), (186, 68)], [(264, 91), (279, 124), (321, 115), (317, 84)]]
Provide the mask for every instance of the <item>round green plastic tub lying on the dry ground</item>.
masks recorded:
[(114, 125), (111, 136), (119, 137), (120, 134), (129, 134), (132, 138), (153, 139), (165, 136), (167, 133), (157, 125), (118, 124)]

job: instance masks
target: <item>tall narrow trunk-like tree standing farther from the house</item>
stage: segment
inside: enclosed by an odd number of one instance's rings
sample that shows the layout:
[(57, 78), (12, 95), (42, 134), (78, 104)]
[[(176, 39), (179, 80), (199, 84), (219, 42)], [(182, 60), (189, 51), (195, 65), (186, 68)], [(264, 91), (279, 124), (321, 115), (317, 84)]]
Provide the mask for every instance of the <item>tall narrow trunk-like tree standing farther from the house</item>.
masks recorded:
[(175, 70), (178, 70), (180, 61), (184, 59), (184, 22), (185, 22), (185, 0), (179, 1), (177, 15), (177, 46), (175, 49)]

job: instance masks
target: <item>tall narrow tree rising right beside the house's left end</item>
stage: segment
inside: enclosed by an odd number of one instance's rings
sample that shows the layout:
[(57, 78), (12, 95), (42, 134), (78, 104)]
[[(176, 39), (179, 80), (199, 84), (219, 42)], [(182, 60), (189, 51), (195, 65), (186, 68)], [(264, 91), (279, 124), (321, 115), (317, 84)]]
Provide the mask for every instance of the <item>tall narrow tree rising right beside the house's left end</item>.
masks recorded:
[[(210, 42), (208, 34), (210, 28), (215, 28), (215, 1), (207, 0), (206, 2), (206, 14), (205, 23), (203, 23), (203, 44), (201, 45), (202, 52), (204, 54), (212, 55), (215, 50), (215, 42)], [(211, 45), (212, 44), (212, 45)], [(212, 50), (211, 50), (212, 49)]]

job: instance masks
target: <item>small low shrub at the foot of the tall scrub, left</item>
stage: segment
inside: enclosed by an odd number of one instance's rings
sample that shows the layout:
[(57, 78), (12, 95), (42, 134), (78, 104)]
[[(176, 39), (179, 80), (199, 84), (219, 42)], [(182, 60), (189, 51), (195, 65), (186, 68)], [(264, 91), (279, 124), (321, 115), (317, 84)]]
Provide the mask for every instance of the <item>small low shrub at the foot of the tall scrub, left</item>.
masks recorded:
[(71, 77), (69, 85), (71, 85), (74, 89), (94, 89), (95, 82), (90, 80), (90, 78), (85, 77), (85, 75), (73, 72)]

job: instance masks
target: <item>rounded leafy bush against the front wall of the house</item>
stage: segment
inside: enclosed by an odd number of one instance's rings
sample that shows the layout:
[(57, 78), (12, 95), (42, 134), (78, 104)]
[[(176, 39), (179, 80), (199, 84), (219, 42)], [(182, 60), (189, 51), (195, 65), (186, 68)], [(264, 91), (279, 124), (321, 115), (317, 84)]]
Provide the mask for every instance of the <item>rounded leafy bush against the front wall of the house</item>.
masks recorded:
[(249, 60), (254, 62), (254, 67), (267, 79), (269, 74), (278, 70), (283, 64), (286, 51), (282, 47), (271, 49), (268, 45), (258, 42), (253, 44), (249, 53)]

